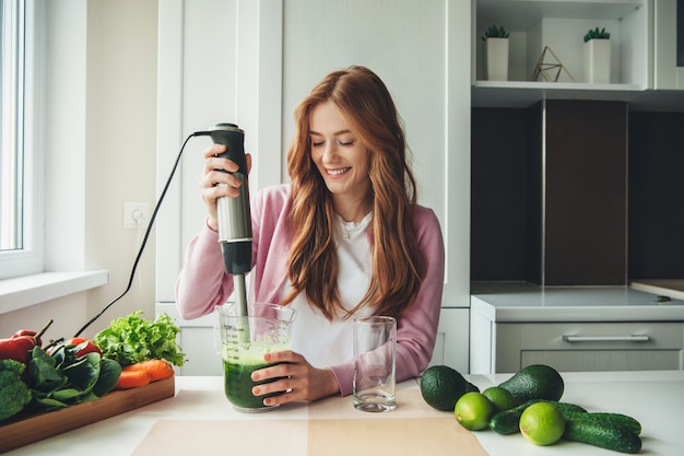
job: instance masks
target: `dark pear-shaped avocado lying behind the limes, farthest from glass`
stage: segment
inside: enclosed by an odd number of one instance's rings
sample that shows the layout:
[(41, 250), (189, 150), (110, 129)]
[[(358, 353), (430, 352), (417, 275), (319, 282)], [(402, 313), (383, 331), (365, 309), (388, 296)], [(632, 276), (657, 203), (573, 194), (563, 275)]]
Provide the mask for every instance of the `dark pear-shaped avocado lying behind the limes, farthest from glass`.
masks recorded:
[(559, 400), (565, 388), (558, 371), (545, 364), (522, 367), (498, 386), (509, 390), (518, 404), (530, 399)]

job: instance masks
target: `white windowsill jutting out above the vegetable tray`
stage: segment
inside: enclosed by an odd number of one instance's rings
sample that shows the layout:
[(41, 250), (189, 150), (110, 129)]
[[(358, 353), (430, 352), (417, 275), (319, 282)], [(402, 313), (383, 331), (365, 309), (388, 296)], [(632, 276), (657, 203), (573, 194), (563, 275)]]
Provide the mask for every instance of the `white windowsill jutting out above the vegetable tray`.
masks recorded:
[(0, 314), (109, 283), (109, 271), (43, 272), (0, 280)]

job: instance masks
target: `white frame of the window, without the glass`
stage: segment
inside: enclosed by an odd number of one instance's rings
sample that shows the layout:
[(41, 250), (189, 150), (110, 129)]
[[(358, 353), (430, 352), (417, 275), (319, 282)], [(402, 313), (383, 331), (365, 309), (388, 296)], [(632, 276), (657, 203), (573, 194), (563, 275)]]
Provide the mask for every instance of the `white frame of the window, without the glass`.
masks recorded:
[[(40, 77), (42, 49), (44, 49), (44, 21), (40, 14), (40, 0), (19, 0), (7, 8), (13, 8), (13, 21), (20, 26), (12, 33), (21, 34), (23, 27), (23, 93), (17, 94), (17, 103), (23, 106), (16, 112), (22, 116), (17, 119), (16, 142), (14, 147), (22, 149), (23, 155), (23, 246), (14, 250), (0, 250), (0, 280), (38, 273), (44, 270), (44, 207), (42, 191), (44, 148), (40, 147), (43, 83)], [(3, 2), (3, 7), (4, 7)], [(4, 14), (4, 12), (3, 12)], [(23, 19), (23, 21), (21, 21)], [(4, 20), (4, 17), (3, 17)], [(4, 34), (3, 30), (3, 34)], [(20, 39), (21, 40), (21, 39)], [(20, 72), (21, 74), (21, 72)]]

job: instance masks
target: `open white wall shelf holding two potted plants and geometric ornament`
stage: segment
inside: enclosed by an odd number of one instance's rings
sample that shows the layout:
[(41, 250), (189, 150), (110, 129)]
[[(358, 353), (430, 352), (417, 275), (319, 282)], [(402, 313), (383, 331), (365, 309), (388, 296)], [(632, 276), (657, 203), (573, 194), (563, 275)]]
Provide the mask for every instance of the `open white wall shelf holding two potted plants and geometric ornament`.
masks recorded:
[[(648, 0), (476, 0), (472, 27), (473, 106), (529, 106), (542, 97), (624, 100), (648, 89), (651, 8)], [(491, 25), (504, 26), (510, 34), (508, 81), (483, 80), (481, 37)], [(595, 27), (611, 33), (610, 83), (582, 81), (583, 36)], [(531, 81), (545, 47), (553, 55), (545, 52), (543, 62), (563, 65), (557, 82)]]

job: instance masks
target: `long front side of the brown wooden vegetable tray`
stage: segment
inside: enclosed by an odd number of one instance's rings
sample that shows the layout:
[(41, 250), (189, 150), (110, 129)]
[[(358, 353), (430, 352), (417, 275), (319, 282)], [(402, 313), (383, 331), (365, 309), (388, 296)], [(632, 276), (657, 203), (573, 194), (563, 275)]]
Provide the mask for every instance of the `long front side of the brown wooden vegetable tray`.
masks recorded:
[(175, 377), (0, 425), (0, 453), (19, 448), (176, 395)]

